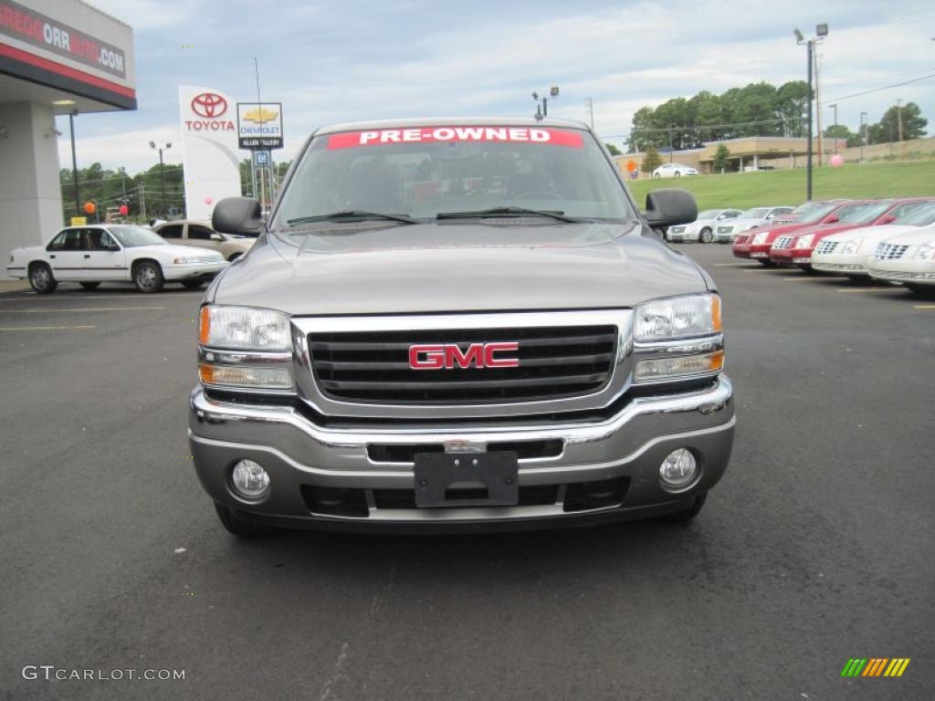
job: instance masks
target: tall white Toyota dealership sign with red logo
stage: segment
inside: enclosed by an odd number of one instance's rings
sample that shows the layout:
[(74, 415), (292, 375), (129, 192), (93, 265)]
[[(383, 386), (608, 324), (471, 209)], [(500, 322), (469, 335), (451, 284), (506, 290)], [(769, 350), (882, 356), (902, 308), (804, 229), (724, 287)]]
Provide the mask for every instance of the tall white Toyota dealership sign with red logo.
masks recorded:
[(214, 203), (240, 195), (236, 103), (194, 85), (179, 87), (185, 208), (189, 219), (210, 219)]

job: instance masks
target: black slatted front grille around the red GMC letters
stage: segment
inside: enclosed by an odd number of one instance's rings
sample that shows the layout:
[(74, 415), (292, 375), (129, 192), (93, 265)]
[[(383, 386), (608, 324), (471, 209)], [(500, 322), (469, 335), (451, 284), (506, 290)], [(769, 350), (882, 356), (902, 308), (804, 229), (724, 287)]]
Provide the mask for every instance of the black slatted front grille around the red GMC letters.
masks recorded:
[[(410, 346), (516, 342), (515, 367), (413, 369)], [(325, 396), (377, 404), (511, 403), (600, 390), (611, 379), (617, 327), (554, 326), (309, 334), (315, 381)]]

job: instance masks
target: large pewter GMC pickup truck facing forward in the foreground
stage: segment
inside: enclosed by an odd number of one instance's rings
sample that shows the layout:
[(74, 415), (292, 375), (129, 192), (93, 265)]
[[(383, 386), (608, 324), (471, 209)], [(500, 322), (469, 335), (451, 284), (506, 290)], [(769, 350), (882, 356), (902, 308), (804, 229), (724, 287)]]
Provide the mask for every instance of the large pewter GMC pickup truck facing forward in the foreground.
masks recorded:
[(687, 521), (734, 434), (721, 299), (559, 120), (319, 129), (200, 311), (194, 466), (224, 527)]

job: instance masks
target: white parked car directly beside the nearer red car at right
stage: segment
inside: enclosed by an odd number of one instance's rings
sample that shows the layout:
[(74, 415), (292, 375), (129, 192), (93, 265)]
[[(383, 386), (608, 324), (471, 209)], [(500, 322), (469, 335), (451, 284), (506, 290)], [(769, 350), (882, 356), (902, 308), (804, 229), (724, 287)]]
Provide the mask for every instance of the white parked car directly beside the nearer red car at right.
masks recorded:
[(860, 227), (826, 236), (812, 253), (812, 267), (823, 273), (866, 278), (873, 253), (882, 241), (912, 234), (919, 227), (935, 223), (935, 203), (911, 210), (897, 223)]

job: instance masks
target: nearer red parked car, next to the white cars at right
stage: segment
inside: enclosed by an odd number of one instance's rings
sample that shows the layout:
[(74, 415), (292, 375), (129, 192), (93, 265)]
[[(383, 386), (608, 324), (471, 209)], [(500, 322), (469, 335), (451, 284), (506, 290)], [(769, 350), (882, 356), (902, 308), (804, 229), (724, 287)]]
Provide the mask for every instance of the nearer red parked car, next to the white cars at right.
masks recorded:
[(833, 217), (836, 222), (809, 226), (784, 236), (777, 236), (770, 248), (770, 261), (787, 267), (798, 266), (803, 270), (812, 268), (812, 251), (825, 236), (861, 226), (879, 226), (899, 222), (922, 207), (930, 199), (877, 200), (844, 205)]

